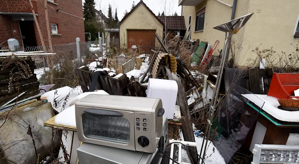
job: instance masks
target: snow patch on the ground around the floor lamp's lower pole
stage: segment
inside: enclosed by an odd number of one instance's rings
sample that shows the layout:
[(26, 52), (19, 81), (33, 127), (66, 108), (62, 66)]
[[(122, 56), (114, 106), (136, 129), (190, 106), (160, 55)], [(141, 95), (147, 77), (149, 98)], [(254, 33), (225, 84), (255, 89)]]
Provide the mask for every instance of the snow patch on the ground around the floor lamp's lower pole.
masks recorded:
[[(195, 130), (196, 128), (193, 123), (192, 123), (192, 126), (193, 126), (193, 130), (197, 131), (197, 130)], [(181, 136), (181, 140), (183, 141), (184, 137), (183, 137), (182, 131), (180, 132), (180, 136)], [(195, 138), (195, 142), (196, 142), (197, 153), (200, 154), (203, 138), (197, 137), (197, 136), (195, 136), (195, 134), (194, 134), (194, 138)], [(206, 143), (206, 140), (205, 140), (205, 143)], [(205, 147), (205, 143), (204, 143), (204, 147)], [(208, 145), (210, 145), (210, 146), (208, 147), (208, 149), (206, 151), (206, 155), (205, 155), (206, 159), (204, 160), (205, 164), (225, 164), (224, 158), (222, 157), (220, 152), (217, 150), (217, 148), (214, 146), (214, 144), (210, 140), (208, 141)], [(215, 150), (215, 152), (213, 152), (213, 149)], [(201, 157), (202, 157), (202, 155), (203, 154), (201, 153)]]

